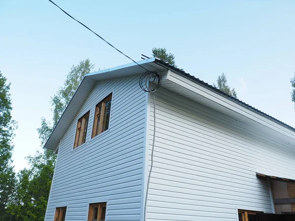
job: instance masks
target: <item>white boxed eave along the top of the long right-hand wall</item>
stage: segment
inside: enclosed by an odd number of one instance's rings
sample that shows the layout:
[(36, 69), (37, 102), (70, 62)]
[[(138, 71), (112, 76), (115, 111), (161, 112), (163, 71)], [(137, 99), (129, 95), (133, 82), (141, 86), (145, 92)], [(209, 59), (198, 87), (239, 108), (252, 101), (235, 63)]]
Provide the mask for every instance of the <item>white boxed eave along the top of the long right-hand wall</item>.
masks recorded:
[(294, 128), (261, 111), (250, 108), (237, 99), (229, 99), (229, 96), (216, 92), (216, 89), (194, 81), (185, 75), (169, 70), (165, 77), (166, 81), (163, 80), (162, 87), (230, 116), (236, 121), (256, 128), (271, 137), (280, 138), (282, 142), (289, 142), (295, 148)]

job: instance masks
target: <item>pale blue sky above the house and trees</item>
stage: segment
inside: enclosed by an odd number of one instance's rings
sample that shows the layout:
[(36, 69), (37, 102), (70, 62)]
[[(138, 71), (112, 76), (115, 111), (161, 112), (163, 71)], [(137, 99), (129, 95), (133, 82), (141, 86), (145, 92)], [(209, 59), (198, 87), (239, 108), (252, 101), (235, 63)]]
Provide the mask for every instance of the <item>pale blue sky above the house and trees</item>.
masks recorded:
[[(55, 0), (135, 60), (153, 47), (207, 82), (225, 73), (238, 99), (295, 127), (294, 0)], [(0, 0), (0, 71), (11, 83), (13, 165), (41, 150), (36, 129), (72, 65), (130, 63), (48, 0)]]

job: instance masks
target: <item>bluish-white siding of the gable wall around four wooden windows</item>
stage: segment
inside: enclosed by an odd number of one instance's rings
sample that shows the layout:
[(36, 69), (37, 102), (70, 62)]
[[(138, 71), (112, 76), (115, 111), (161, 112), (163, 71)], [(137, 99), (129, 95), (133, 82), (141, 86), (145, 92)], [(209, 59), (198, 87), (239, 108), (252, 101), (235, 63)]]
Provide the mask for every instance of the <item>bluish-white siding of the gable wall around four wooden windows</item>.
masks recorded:
[[(108, 221), (139, 221), (146, 93), (139, 76), (98, 82), (60, 141), (45, 221), (67, 206), (66, 221), (86, 221), (89, 203), (107, 201)], [(91, 139), (95, 106), (113, 92), (109, 129)], [(86, 142), (73, 149), (77, 120), (90, 110)]]

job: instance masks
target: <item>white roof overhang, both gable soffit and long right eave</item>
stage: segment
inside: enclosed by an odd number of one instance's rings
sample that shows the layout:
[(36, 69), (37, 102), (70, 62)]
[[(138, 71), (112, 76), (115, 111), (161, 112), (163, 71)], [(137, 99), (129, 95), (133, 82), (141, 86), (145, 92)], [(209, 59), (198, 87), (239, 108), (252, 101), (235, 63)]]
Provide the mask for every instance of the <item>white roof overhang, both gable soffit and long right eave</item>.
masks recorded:
[[(285, 142), (289, 142), (295, 148), (295, 129), (287, 124), (226, 95), (215, 87), (157, 58), (141, 60), (138, 63), (149, 71), (161, 73), (161, 87), (231, 116), (240, 122), (266, 132), (270, 136), (279, 137), (285, 140)], [(60, 139), (65, 134), (98, 81), (140, 75), (146, 72), (141, 66), (136, 63), (130, 63), (87, 74), (44, 147), (48, 149), (56, 149), (58, 147)]]

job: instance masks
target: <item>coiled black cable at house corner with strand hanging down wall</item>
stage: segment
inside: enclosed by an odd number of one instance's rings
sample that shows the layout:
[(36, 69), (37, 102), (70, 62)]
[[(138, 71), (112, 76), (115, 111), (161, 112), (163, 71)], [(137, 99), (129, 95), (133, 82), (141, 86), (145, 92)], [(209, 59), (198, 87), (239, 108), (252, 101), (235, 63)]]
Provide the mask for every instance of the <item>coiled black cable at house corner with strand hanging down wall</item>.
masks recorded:
[(153, 139), (152, 139), (152, 147), (151, 147), (151, 161), (150, 161), (150, 169), (148, 173), (148, 183), (147, 183), (147, 193), (145, 199), (145, 209), (144, 209), (144, 221), (146, 221), (146, 214), (147, 214), (147, 202), (148, 202), (148, 186), (149, 186), (149, 179), (153, 165), (153, 151), (155, 146), (155, 136), (156, 136), (156, 101), (154, 92), (156, 92), (159, 87), (161, 86), (161, 76), (158, 75), (156, 72), (147, 71), (144, 73), (139, 80), (140, 87), (146, 91), (150, 92), (153, 97), (153, 120), (154, 120), (154, 128), (153, 128)]

